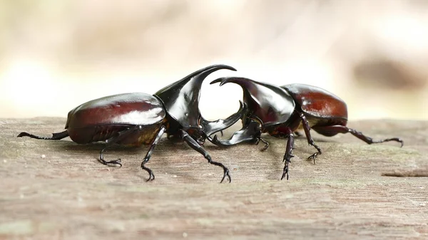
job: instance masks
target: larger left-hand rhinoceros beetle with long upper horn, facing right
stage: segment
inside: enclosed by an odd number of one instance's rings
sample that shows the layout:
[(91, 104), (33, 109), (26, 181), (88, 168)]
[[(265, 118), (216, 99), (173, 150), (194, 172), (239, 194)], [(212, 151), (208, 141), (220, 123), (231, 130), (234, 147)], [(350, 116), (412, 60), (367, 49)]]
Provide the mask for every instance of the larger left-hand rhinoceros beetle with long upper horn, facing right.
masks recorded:
[[(214, 132), (224, 130), (237, 122), (243, 115), (245, 106), (240, 102), (240, 110), (225, 120), (208, 121), (200, 115), (199, 98), (203, 80), (214, 71), (235, 68), (214, 65), (200, 69), (162, 88), (154, 95), (146, 93), (124, 93), (91, 100), (68, 113), (65, 131), (53, 133), (52, 137), (39, 137), (21, 132), (18, 137), (33, 137), (44, 140), (61, 140), (70, 137), (73, 142), (86, 144), (105, 141), (100, 152), (103, 165), (121, 165), (121, 160), (106, 161), (103, 152), (117, 143), (121, 145), (151, 145), (141, 168), (149, 174), (147, 181), (155, 179), (153, 171), (146, 167), (154, 148), (163, 133), (181, 137), (193, 150), (200, 152), (210, 164), (223, 167), (223, 180), (229, 170), (220, 162), (214, 162), (201, 146)], [(209, 138), (209, 140), (211, 140)]]

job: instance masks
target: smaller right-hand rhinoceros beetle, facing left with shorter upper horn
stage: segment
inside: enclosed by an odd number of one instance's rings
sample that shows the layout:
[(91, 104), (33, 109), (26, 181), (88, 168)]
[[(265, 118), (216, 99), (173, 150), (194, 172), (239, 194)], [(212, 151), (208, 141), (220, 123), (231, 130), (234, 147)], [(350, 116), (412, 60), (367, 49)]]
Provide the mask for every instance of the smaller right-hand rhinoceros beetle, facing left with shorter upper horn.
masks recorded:
[(403, 141), (397, 137), (384, 140), (373, 140), (362, 132), (357, 132), (347, 127), (347, 105), (336, 95), (327, 92), (322, 88), (304, 84), (290, 84), (282, 87), (260, 83), (248, 78), (228, 77), (213, 80), (213, 83), (236, 83), (243, 88), (243, 101), (248, 105), (248, 110), (243, 114), (243, 127), (230, 137), (229, 140), (218, 140), (215, 135), (212, 142), (218, 146), (230, 146), (240, 142), (265, 143), (263, 150), (267, 150), (269, 143), (260, 136), (262, 132), (267, 132), (275, 137), (287, 138), (287, 147), (283, 162), (285, 162), (282, 172), (283, 179), (288, 179), (288, 163), (294, 157), (292, 149), (294, 145), (293, 132), (300, 127), (305, 131), (307, 142), (317, 149), (308, 159), (313, 159), (321, 154), (318, 147), (310, 135), (310, 129), (328, 137), (337, 133), (350, 132), (360, 140), (368, 144), (396, 141)]

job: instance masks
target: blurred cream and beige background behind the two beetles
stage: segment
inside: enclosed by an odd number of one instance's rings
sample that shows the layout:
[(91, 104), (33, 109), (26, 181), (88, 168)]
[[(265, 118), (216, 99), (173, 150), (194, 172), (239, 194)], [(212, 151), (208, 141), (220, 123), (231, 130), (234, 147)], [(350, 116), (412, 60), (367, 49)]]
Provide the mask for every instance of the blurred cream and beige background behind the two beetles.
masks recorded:
[(337, 94), (350, 120), (427, 120), (428, 1), (0, 0), (0, 118), (155, 93), (205, 66), (205, 118), (238, 110), (223, 75)]

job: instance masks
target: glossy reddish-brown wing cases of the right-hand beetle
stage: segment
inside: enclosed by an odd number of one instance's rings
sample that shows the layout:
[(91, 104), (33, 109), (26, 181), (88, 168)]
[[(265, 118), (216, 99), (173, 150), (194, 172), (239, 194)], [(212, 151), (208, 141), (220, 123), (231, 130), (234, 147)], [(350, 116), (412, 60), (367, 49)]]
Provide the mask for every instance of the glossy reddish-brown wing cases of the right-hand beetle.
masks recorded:
[(346, 103), (336, 95), (312, 85), (289, 84), (287, 90), (304, 113), (315, 118), (341, 118), (347, 120)]

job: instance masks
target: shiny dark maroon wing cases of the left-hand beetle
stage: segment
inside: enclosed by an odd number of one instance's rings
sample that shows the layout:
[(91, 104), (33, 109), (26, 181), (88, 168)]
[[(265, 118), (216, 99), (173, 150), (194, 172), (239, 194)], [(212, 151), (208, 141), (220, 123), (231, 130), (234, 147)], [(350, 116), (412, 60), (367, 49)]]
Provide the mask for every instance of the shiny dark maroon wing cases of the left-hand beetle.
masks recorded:
[(152, 125), (163, 121), (158, 98), (146, 93), (124, 93), (91, 100), (68, 113), (66, 129), (98, 125)]

